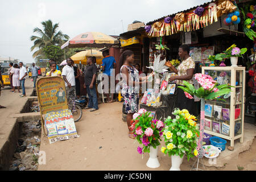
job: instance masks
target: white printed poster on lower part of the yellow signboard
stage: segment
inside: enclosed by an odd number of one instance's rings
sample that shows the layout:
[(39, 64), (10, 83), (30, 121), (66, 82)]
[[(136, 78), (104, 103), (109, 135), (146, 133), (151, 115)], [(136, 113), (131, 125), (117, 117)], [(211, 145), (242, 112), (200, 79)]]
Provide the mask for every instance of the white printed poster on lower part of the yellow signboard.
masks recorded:
[(77, 138), (75, 122), (70, 110), (58, 110), (44, 116), (44, 125), (48, 131), (49, 143)]

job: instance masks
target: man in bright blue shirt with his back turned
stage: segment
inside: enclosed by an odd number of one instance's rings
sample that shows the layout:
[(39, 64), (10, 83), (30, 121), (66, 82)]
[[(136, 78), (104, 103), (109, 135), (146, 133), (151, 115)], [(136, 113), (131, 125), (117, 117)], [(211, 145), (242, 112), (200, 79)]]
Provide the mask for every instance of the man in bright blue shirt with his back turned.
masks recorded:
[[(108, 75), (109, 78), (109, 92), (105, 93), (106, 97), (108, 98), (107, 103), (111, 103), (114, 102), (113, 101), (113, 97), (114, 97), (114, 93), (111, 94), (111, 100), (110, 100), (110, 76), (115, 76), (113, 75), (113, 69), (116, 68), (117, 63), (115, 62), (115, 59), (113, 56), (109, 56), (109, 51), (103, 51), (102, 55), (104, 56), (104, 59), (102, 60), (102, 71), (104, 74)], [(114, 79), (115, 80), (115, 79)], [(114, 89), (115, 90), (115, 89)]]

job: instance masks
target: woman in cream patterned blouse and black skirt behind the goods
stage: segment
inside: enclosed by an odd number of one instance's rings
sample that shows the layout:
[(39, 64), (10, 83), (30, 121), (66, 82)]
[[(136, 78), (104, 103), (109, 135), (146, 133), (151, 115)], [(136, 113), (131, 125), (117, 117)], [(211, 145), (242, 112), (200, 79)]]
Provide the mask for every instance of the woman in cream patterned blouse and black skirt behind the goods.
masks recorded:
[[(186, 44), (180, 46), (178, 54), (182, 62), (177, 69), (170, 62), (166, 63), (166, 65), (177, 74), (177, 76), (170, 77), (169, 81), (177, 80), (177, 86), (183, 86), (183, 81), (193, 84), (192, 78), (195, 69), (195, 61), (189, 56), (189, 46)], [(195, 107), (194, 100), (185, 97), (184, 91), (180, 88), (177, 88), (177, 97), (177, 107), (179, 107), (179, 109), (187, 109), (189, 113), (193, 114), (195, 110), (193, 109)]]

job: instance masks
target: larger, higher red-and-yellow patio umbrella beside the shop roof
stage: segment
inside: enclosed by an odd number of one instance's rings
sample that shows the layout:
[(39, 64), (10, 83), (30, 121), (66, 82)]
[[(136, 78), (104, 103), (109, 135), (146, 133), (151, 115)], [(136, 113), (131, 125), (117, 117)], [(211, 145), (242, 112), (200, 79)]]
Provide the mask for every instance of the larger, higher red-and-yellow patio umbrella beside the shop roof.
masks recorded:
[(119, 41), (112, 36), (103, 34), (101, 32), (85, 32), (75, 36), (75, 38), (68, 40), (61, 46), (61, 49), (68, 48), (79, 48), (79, 47), (108, 47), (113, 44), (118, 44)]

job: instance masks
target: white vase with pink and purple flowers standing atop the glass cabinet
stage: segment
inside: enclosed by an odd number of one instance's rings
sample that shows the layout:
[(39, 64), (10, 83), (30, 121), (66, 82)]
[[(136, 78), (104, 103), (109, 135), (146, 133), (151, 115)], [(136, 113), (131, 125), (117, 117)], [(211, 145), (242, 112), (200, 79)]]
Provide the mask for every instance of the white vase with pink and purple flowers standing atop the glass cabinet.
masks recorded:
[(223, 60), (230, 58), (232, 67), (237, 67), (238, 57), (242, 57), (242, 55), (247, 51), (247, 48), (238, 48), (236, 44), (230, 46), (224, 53), (220, 53), (216, 55), (216, 59)]

